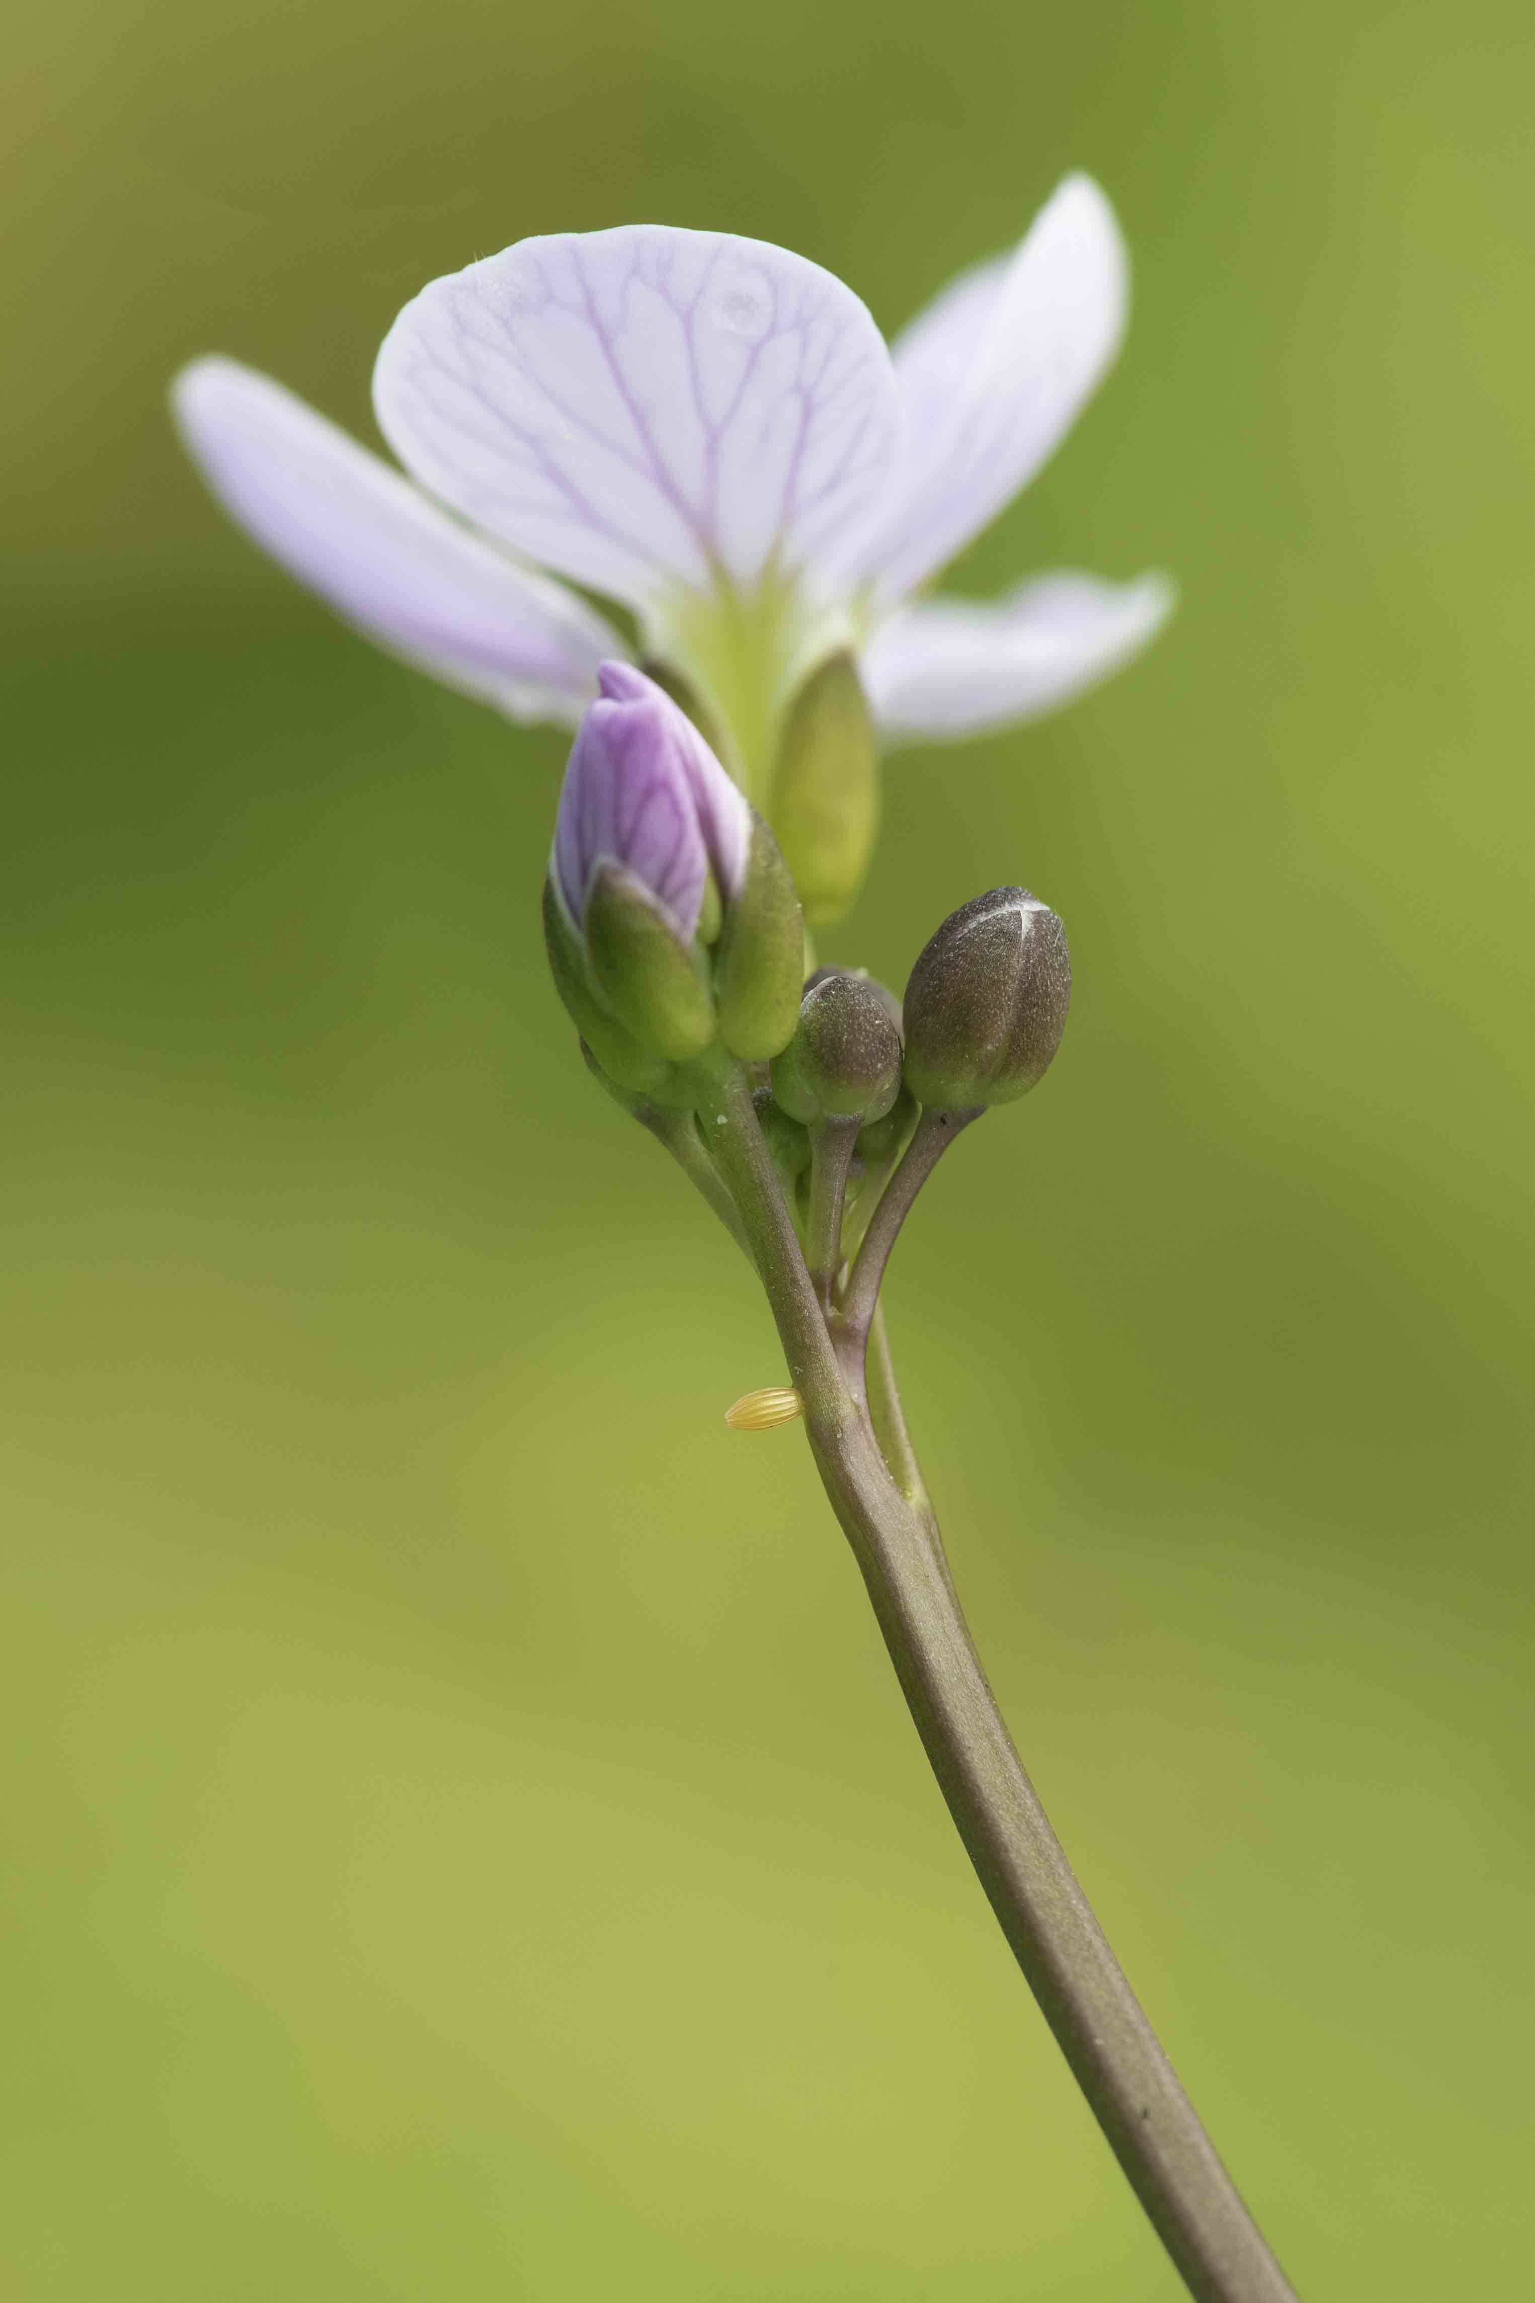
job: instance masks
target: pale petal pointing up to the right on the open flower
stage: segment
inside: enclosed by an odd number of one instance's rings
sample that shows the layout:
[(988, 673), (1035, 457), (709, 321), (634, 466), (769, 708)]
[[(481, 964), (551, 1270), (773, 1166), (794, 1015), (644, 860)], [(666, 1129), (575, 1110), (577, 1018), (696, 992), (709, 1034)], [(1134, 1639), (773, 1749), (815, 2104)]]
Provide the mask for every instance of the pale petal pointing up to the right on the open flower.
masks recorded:
[(1125, 306), (1114, 210), (1070, 175), (1013, 256), (960, 274), (895, 341), (909, 451), (870, 557), (881, 601), (916, 590), (1033, 479), (1114, 359)]

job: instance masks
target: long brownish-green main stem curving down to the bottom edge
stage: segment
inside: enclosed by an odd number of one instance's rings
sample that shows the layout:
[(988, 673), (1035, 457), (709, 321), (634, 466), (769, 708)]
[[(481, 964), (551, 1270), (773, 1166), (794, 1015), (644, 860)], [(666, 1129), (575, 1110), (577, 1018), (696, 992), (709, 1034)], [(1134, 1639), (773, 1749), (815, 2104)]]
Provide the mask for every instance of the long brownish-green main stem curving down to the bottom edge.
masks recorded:
[(976, 1656), (932, 1511), (895, 1485), (842, 1377), (741, 1076), (700, 1078), (700, 1110), (907, 1707), (1056, 2045), (1197, 2303), (1296, 2303), (1049, 1829)]

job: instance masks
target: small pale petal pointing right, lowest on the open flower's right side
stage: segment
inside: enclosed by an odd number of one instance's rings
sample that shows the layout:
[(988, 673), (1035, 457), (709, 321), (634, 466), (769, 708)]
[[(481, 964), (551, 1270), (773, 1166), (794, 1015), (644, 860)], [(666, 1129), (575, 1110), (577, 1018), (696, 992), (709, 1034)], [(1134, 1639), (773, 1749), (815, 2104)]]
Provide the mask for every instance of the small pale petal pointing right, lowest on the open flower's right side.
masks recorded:
[(900, 608), (863, 652), (863, 684), (886, 737), (976, 735), (1038, 719), (1128, 661), (1167, 622), (1164, 576), (1114, 585), (1036, 576), (1006, 599)]

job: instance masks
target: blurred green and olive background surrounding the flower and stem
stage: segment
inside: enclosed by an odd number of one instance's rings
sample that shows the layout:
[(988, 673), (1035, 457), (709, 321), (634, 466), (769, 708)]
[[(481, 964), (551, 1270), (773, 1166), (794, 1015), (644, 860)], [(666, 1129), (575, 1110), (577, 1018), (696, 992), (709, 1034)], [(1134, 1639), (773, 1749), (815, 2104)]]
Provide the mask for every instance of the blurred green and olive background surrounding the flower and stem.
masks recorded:
[(371, 435), (525, 233), (900, 325), (1068, 166), (1137, 316), (957, 569), (1153, 654), (902, 755), (831, 956), (1026, 880), (1045, 1089), (891, 1315), (992, 1677), (1303, 2291), (1528, 2275), (1523, 5), (23, 0), (5, 461), (5, 2294), (1169, 2303), (743, 1269), (543, 976), (562, 739), (343, 633), (170, 368)]

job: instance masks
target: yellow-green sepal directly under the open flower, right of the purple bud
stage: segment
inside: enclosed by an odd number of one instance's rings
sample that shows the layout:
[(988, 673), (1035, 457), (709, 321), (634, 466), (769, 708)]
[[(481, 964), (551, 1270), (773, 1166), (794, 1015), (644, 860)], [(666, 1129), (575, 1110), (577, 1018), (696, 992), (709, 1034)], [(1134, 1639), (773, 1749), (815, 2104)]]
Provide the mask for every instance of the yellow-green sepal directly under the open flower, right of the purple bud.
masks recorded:
[(851, 656), (828, 656), (789, 705), (769, 815), (810, 926), (840, 919), (879, 829), (875, 723)]

